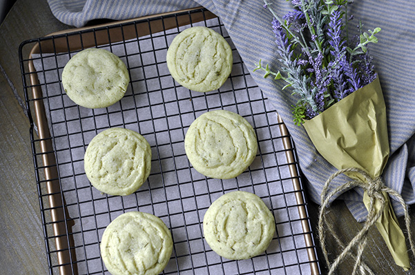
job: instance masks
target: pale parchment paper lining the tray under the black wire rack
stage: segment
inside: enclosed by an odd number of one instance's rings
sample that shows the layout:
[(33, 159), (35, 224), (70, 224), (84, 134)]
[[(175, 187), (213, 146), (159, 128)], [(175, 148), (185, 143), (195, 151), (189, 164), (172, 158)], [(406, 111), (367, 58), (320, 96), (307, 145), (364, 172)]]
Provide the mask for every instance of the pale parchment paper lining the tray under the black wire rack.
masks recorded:
[[(117, 54), (131, 74), (124, 98), (108, 108), (82, 108), (61, 87), (61, 71), (77, 51), (32, 56), (44, 91), (66, 218), (73, 223), (70, 238), (77, 272), (107, 273), (99, 256), (102, 233), (119, 214), (138, 210), (162, 218), (173, 234), (175, 245), (166, 274), (311, 274), (296, 201), (298, 191), (293, 189), (277, 114), (263, 99), (220, 21), (211, 19), (193, 26), (213, 28), (233, 48), (231, 77), (218, 91), (191, 92), (175, 83), (168, 73), (166, 49), (177, 32), (189, 26), (99, 45)], [(189, 125), (200, 114), (218, 109), (244, 116), (258, 136), (260, 149), (255, 161), (235, 179), (202, 176), (191, 167), (184, 152)], [(88, 143), (110, 127), (135, 130), (152, 148), (151, 175), (129, 196), (101, 194), (84, 174)], [(249, 260), (221, 258), (202, 234), (204, 212), (216, 198), (233, 190), (257, 194), (276, 218), (277, 234), (266, 253)]]

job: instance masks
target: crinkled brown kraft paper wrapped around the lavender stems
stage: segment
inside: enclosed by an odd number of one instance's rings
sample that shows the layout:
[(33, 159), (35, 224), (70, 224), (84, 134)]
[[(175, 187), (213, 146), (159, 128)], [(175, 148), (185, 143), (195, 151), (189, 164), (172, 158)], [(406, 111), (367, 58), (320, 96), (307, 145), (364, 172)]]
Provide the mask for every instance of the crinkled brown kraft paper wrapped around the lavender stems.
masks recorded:
[[(365, 170), (373, 179), (380, 176), (389, 157), (386, 108), (380, 82), (377, 78), (318, 116), (303, 123), (318, 152), (338, 170), (356, 167)], [(347, 174), (352, 179), (365, 181), (358, 173)], [(376, 221), (376, 227), (385, 239), (395, 263), (409, 269), (405, 236), (385, 196), (385, 208)], [(367, 192), (363, 203), (369, 208)], [(379, 201), (375, 201), (376, 212)]]

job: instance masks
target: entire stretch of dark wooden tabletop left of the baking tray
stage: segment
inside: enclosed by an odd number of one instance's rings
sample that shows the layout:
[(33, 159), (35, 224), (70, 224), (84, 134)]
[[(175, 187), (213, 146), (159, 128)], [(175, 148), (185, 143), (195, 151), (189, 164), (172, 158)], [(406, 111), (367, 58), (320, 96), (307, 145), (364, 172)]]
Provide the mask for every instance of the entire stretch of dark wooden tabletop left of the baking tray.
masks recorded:
[(30, 0), (17, 1), (0, 26), (0, 274), (48, 273), (18, 50), (68, 28), (46, 1)]

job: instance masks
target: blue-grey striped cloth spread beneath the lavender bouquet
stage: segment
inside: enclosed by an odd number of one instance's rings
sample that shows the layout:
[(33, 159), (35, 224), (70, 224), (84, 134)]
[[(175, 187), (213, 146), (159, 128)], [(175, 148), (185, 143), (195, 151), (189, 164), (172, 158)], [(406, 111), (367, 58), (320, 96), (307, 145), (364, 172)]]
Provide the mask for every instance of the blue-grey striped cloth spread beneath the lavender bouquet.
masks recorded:
[[(251, 72), (259, 59), (271, 64), (274, 70), (281, 65), (273, 43), (272, 16), (264, 10), (261, 0), (48, 0), (48, 3), (57, 19), (77, 27), (91, 19), (128, 19), (204, 6), (220, 17)], [(275, 1), (273, 8), (282, 16), (291, 9), (291, 3)], [(388, 187), (400, 192), (408, 204), (415, 203), (415, 1), (356, 1), (349, 11), (354, 14), (356, 25), (361, 19), (365, 29), (382, 28), (377, 35), (379, 43), (370, 45), (370, 52), (387, 105), (391, 156), (383, 179)], [(296, 99), (289, 91), (281, 90), (284, 83), (263, 79), (261, 72), (252, 75), (289, 128), (301, 170), (308, 180), (309, 197), (319, 203), (322, 186), (336, 168), (316, 152), (304, 128), (293, 125), (290, 106)], [(333, 187), (347, 181), (346, 176), (340, 176), (332, 182)], [(358, 189), (340, 196), (358, 221), (363, 221), (367, 214), (362, 196), (363, 190)], [(403, 209), (393, 198), (392, 205), (401, 216)]]

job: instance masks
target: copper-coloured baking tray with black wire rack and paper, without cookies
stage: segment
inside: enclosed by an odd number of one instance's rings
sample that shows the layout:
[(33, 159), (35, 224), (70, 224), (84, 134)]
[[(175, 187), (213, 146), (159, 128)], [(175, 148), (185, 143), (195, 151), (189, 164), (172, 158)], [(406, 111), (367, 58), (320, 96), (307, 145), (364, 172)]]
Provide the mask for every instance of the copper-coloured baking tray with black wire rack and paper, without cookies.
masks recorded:
[[(171, 77), (163, 55), (189, 26), (213, 28), (233, 48), (233, 71), (218, 91), (191, 92), (166, 80)], [(126, 96), (115, 107), (86, 110), (61, 88), (61, 59), (91, 47), (117, 53), (131, 72)], [(174, 248), (164, 274), (320, 274), (291, 136), (214, 14), (195, 8), (58, 32), (24, 41), (19, 57), (50, 274), (108, 274), (100, 238), (110, 221), (132, 210), (156, 214), (171, 230)], [(215, 109), (240, 113), (258, 136), (253, 165), (236, 179), (200, 176), (180, 149), (191, 120)], [(90, 139), (108, 127), (142, 130), (151, 143), (154, 168), (130, 196), (99, 194), (79, 168)], [(233, 190), (258, 194), (276, 218), (269, 249), (249, 260), (219, 257), (202, 234), (209, 203)]]

